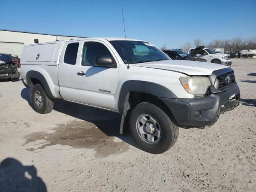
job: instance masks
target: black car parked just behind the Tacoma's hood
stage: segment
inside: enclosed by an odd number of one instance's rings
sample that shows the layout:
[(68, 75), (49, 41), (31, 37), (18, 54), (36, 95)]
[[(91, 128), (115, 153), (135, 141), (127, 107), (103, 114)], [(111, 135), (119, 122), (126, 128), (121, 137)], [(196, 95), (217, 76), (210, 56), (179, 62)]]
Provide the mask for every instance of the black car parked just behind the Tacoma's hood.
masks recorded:
[(164, 50), (163, 52), (165, 52), (172, 60), (190, 60), (190, 61), (208, 62), (206, 59), (192, 57), (190, 56), (190, 54), (186, 54), (181, 50)]

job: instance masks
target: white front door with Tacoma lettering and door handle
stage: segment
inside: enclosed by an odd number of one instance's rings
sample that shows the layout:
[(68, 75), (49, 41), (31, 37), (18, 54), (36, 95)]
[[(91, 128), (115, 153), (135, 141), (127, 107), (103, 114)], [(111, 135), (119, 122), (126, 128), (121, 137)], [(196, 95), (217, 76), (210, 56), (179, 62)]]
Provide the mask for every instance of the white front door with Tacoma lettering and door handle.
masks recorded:
[[(78, 102), (117, 110), (118, 60), (110, 46), (100, 40), (82, 42), (81, 62), (77, 67)], [(109, 55), (116, 68), (95, 66), (95, 58)]]

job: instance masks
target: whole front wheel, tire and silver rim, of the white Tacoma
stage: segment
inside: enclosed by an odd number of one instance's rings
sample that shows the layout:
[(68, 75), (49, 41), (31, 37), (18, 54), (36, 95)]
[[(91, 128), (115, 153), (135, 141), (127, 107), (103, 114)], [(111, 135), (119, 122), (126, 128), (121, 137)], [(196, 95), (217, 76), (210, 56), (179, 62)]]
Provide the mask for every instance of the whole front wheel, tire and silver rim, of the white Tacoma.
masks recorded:
[(135, 106), (129, 120), (132, 136), (139, 147), (152, 154), (169, 150), (179, 134), (178, 126), (154, 104), (143, 102)]

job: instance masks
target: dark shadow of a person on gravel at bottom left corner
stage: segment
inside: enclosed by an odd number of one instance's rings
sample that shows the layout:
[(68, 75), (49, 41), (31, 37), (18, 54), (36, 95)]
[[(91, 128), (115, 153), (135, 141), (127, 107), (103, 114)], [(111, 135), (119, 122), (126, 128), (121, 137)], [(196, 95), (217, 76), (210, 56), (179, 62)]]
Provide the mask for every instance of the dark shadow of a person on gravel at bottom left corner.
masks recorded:
[(14, 158), (6, 158), (0, 163), (0, 191), (47, 192), (47, 188), (34, 166), (24, 166)]

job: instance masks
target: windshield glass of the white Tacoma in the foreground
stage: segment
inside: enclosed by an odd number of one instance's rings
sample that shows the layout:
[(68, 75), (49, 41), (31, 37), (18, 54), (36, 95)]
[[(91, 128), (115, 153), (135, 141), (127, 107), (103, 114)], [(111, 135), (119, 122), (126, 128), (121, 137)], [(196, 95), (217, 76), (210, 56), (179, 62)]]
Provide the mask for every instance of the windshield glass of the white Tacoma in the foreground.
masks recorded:
[(110, 41), (110, 43), (116, 49), (125, 64), (170, 60), (164, 52), (148, 42)]

